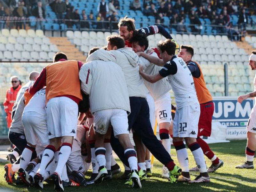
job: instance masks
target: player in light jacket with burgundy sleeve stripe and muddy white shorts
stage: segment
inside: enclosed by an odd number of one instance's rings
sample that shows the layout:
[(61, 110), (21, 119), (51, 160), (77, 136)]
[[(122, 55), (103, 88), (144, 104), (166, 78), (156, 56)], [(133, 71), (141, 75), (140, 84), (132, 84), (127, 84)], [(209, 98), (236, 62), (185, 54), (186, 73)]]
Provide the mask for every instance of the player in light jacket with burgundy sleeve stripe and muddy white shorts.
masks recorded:
[(132, 170), (132, 187), (141, 188), (136, 151), (129, 137), (127, 112), (130, 113), (131, 109), (122, 69), (111, 61), (92, 60), (81, 67), (79, 78), (83, 92), (89, 95), (93, 114), (95, 156), (99, 164), (99, 173), (94, 182), (100, 183), (108, 175), (104, 138), (111, 123), (113, 133), (121, 144), (118, 147), (124, 148), (124, 155)]

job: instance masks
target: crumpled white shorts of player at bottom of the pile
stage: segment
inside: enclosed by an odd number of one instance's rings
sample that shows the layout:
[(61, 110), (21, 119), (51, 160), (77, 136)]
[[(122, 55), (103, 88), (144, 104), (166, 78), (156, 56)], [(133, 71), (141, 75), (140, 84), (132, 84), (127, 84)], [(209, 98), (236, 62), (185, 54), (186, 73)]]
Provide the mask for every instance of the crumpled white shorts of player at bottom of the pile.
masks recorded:
[(72, 150), (67, 161), (68, 172), (77, 171), (84, 173), (89, 168), (86, 165), (81, 155), (81, 143), (73, 139)]

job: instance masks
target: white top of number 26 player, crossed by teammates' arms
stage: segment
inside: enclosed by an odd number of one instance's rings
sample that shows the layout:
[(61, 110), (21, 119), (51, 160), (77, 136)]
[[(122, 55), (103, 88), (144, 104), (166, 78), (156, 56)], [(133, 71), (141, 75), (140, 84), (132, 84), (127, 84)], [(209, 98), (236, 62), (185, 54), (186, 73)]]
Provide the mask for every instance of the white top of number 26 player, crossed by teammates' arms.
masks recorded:
[[(145, 51), (146, 52), (146, 51)], [(157, 54), (154, 52), (151, 54), (152, 56), (158, 57)], [(159, 73), (159, 70), (162, 69), (162, 67), (154, 65), (149, 60), (145, 59), (144, 57), (140, 56), (140, 65), (143, 66), (144, 71), (148, 75), (156, 75)], [(144, 84), (148, 88), (150, 94), (152, 95), (154, 101), (159, 99), (161, 96), (163, 96), (165, 93), (169, 92), (172, 89), (172, 86), (168, 83), (168, 78), (165, 77), (156, 83), (150, 83), (143, 79)]]

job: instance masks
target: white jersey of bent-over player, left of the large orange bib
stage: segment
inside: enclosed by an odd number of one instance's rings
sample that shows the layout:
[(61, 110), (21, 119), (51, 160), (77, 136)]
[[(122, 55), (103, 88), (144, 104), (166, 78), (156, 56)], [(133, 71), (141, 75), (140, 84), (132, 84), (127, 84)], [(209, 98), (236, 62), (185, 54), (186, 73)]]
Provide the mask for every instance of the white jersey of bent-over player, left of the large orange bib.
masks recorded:
[(24, 112), (34, 111), (42, 116), (46, 116), (45, 111), (45, 88), (40, 89), (33, 95), (33, 97), (28, 102), (27, 106), (24, 108)]

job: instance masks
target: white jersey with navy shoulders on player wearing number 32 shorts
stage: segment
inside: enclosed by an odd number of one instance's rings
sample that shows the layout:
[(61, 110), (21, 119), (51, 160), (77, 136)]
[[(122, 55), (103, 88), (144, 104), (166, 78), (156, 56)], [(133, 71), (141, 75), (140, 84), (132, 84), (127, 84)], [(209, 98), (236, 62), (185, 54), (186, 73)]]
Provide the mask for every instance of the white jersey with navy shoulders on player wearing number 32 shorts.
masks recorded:
[(159, 74), (163, 77), (168, 76), (177, 108), (198, 103), (192, 74), (182, 58), (174, 55), (170, 61), (164, 64)]

